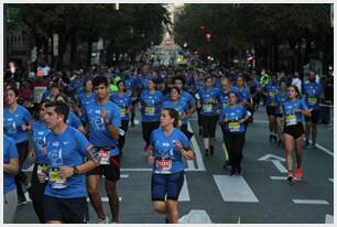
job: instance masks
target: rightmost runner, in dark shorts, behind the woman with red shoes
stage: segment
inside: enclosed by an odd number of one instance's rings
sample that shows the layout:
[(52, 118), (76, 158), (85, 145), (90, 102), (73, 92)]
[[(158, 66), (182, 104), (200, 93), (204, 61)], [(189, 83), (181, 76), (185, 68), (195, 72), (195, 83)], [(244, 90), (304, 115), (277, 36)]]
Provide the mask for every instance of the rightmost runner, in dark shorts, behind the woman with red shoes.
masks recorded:
[(315, 82), (316, 76), (313, 71), (308, 73), (309, 83), (304, 84), (303, 95), (305, 104), (312, 110), (312, 117), (305, 117), (305, 148), (309, 145), (309, 134), (312, 130), (312, 148), (316, 149), (317, 123), (319, 120), (319, 102), (324, 99), (324, 90), (320, 84)]

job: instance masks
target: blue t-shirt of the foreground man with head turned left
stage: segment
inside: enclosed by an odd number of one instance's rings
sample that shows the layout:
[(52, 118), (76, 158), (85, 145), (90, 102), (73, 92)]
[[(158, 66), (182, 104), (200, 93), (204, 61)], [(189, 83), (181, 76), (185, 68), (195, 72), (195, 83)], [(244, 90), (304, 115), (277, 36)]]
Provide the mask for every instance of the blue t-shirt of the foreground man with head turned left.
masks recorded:
[[(59, 166), (75, 167), (85, 163), (88, 140), (79, 131), (67, 127), (61, 134), (53, 132), (46, 137), (48, 169)], [(73, 175), (66, 180), (66, 188), (52, 188), (51, 184), (45, 187), (45, 195), (59, 198), (77, 198), (86, 196), (85, 174)]]

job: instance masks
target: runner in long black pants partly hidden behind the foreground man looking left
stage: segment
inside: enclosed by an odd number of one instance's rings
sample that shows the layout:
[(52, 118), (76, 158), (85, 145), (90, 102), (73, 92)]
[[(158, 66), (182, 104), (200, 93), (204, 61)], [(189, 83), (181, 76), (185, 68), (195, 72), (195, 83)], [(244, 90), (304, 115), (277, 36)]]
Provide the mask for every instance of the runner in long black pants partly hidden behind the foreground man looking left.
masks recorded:
[(31, 187), (29, 190), (30, 197), (33, 202), (35, 214), (39, 217), (40, 223), (45, 223), (43, 217), (42, 198), (46, 183), (41, 184), (37, 179), (37, 172), (47, 169), (47, 156), (46, 156), (46, 136), (51, 132), (44, 123), (45, 105), (47, 101), (42, 101), (37, 109), (37, 121), (32, 125), (32, 140), (33, 145), (30, 145), (32, 150), (29, 153), (30, 161), (35, 161), (34, 169), (32, 172)]

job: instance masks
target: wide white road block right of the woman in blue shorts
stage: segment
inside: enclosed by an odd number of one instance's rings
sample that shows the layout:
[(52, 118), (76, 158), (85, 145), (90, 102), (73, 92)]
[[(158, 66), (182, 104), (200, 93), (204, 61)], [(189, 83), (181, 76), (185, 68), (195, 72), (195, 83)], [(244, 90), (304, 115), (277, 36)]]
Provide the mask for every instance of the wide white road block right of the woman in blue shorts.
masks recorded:
[(225, 202), (259, 203), (242, 176), (214, 175)]

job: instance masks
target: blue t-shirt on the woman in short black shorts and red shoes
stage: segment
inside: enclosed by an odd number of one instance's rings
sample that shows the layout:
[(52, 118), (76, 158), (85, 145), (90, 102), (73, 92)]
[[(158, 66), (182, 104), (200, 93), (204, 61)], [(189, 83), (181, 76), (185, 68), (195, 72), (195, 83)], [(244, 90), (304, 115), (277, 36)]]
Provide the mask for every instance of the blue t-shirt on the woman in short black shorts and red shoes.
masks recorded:
[(293, 126), (302, 122), (302, 114), (295, 112), (296, 109), (307, 110), (307, 106), (302, 99), (296, 99), (295, 101), (285, 101), (284, 111), (285, 111), (285, 125)]

